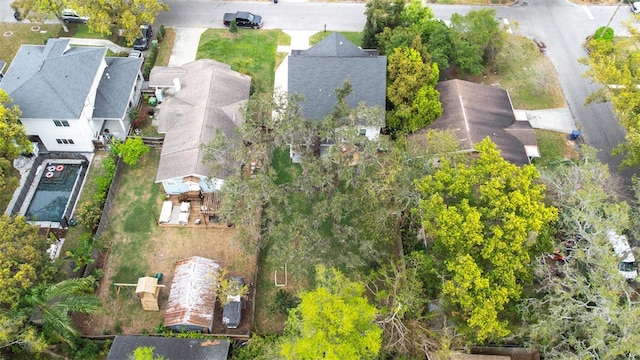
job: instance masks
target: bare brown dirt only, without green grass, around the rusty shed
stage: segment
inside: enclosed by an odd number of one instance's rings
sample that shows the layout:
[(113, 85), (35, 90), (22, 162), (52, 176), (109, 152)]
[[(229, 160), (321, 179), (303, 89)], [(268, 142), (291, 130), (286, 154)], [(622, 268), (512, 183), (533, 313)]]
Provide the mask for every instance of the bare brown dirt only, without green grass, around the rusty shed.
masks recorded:
[[(229, 274), (242, 276), (247, 282), (253, 279), (255, 259), (247, 257), (239, 244), (235, 241), (235, 229), (222, 228), (160, 228), (148, 238), (144, 254), (140, 254), (151, 265), (151, 273), (162, 273), (160, 282), (166, 287), (160, 290), (159, 312), (142, 310), (140, 300), (134, 294), (135, 287), (121, 287), (116, 294), (117, 282), (114, 276), (119, 268), (120, 259), (110, 253), (106, 254), (105, 273), (98, 297), (102, 300), (105, 313), (82, 319), (83, 333), (88, 335), (102, 335), (104, 333), (140, 334), (153, 332), (153, 328), (160, 325), (164, 318), (164, 304), (169, 298), (169, 291), (173, 280), (174, 266), (177, 260), (202, 256), (216, 260)], [(234, 333), (247, 333), (250, 323), (250, 302), (243, 313), (243, 326), (233, 330)], [(221, 313), (216, 309), (216, 313)], [(224, 331), (223, 327), (216, 327)]]

